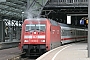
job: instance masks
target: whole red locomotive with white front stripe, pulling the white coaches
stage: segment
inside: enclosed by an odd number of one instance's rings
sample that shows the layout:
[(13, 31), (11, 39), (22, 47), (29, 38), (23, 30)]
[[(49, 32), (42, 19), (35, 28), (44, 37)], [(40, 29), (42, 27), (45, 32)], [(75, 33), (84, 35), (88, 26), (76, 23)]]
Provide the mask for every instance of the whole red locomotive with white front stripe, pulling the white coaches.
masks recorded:
[(22, 24), (19, 48), (26, 56), (36, 56), (61, 45), (60, 25), (50, 19), (26, 19)]

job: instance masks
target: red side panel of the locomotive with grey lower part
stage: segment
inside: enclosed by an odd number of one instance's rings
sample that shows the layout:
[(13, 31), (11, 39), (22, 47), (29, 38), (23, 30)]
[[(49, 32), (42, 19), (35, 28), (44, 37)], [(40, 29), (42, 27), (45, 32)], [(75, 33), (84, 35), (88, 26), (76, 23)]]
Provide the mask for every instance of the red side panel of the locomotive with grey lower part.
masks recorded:
[(60, 37), (60, 26), (53, 26), (51, 25), (50, 27), (50, 46), (51, 49), (56, 48), (58, 46), (60, 46), (60, 41), (61, 37)]

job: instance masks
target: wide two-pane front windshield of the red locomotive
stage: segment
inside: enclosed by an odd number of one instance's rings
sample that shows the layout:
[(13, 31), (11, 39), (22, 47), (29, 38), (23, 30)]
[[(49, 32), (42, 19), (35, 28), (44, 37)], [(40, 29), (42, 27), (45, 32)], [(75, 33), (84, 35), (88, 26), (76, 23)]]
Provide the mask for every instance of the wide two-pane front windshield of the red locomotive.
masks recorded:
[(45, 24), (27, 24), (26, 25), (26, 31), (33, 31), (33, 30), (45, 31), (45, 29), (46, 29)]

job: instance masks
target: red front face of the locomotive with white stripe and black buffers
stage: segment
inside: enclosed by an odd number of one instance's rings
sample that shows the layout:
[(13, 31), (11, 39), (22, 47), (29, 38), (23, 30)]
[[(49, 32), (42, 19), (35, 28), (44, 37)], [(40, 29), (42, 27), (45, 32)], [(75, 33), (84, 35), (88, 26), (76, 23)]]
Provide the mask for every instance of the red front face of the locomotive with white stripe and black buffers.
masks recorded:
[(26, 55), (46, 52), (46, 20), (25, 20), (22, 25), (21, 47)]

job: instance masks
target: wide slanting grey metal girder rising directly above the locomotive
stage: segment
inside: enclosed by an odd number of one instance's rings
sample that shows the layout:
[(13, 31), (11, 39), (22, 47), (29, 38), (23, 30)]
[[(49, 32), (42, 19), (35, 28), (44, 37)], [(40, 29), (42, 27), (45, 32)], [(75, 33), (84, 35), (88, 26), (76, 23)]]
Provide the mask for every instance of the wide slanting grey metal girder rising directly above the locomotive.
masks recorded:
[(40, 17), (41, 11), (47, 1), (48, 0), (27, 0), (27, 18)]

